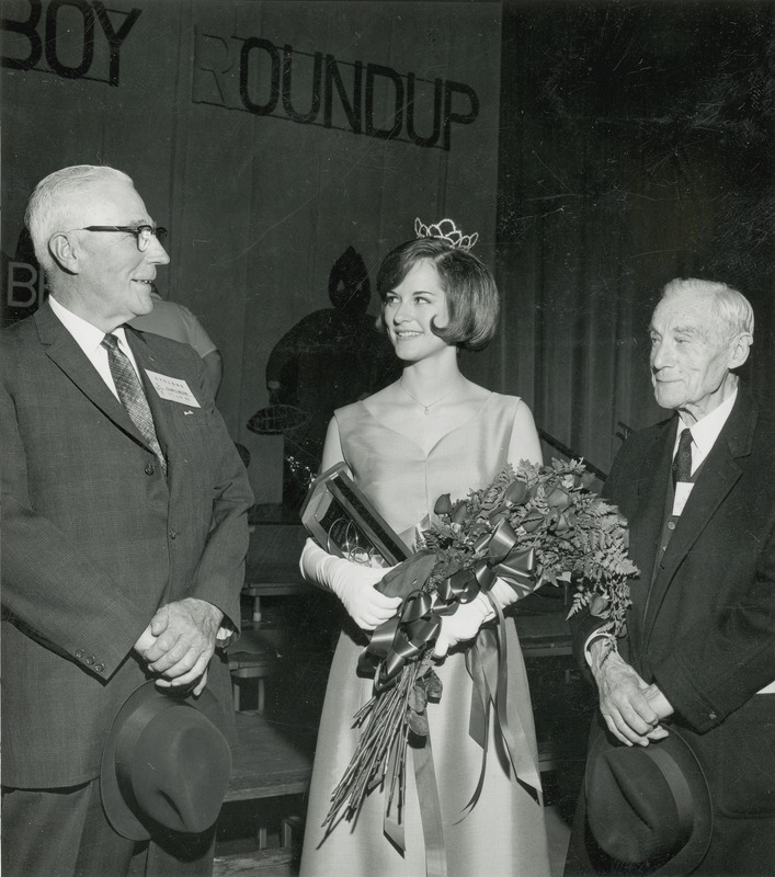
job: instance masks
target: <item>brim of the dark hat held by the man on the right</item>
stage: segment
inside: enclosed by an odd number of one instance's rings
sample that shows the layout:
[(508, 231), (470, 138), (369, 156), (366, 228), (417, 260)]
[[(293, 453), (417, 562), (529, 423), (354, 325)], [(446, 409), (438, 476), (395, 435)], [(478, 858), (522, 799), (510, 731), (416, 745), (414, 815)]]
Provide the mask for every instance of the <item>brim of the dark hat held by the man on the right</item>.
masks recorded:
[[(629, 868), (632, 873), (637, 873), (642, 877), (684, 877), (684, 875), (691, 874), (703, 861), (710, 845), (713, 808), (707, 778), (687, 739), (674, 726), (670, 726), (670, 736), (668, 738), (657, 743), (649, 743), (642, 752), (651, 754), (649, 753), (651, 747), (669, 750), (671, 758), (680, 760), (681, 770), (693, 794), (694, 822), (688, 839), (670, 859), (656, 862), (653, 866), (650, 866), (648, 862), (643, 862), (636, 866), (629, 865)], [(590, 750), (588, 764), (592, 764), (593, 759), (600, 758), (606, 751), (618, 748), (619, 744), (612, 742), (607, 733), (600, 733)], [(588, 807), (589, 804), (585, 802), (585, 809)], [(605, 851), (601, 850), (601, 852), (608, 855)], [(616, 862), (615, 858), (608, 857), (612, 863)]]

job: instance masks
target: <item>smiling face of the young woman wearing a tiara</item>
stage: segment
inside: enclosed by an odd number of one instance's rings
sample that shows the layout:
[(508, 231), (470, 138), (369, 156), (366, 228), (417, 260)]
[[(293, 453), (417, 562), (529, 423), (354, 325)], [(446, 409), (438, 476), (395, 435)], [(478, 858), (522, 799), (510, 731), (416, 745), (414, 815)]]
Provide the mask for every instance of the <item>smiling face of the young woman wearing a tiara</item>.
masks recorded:
[(434, 334), (448, 323), (446, 293), (428, 259), (417, 262), (401, 283), (385, 296), (384, 321), (399, 358), (418, 362), (449, 348)]

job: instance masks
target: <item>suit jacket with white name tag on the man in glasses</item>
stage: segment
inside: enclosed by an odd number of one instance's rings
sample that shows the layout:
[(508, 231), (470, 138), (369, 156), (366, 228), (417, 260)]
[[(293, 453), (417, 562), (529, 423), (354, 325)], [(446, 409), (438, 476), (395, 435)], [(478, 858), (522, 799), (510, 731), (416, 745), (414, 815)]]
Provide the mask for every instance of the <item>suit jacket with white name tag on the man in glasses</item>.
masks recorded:
[[(111, 722), (145, 681), (132, 648), (157, 608), (195, 596), (239, 628), (252, 493), (191, 348), (126, 330), (162, 474), (48, 304), (3, 332), (2, 661), (7, 786), (93, 778)], [(150, 369), (200, 407), (162, 399)], [(230, 713), (228, 669), (208, 685)]]

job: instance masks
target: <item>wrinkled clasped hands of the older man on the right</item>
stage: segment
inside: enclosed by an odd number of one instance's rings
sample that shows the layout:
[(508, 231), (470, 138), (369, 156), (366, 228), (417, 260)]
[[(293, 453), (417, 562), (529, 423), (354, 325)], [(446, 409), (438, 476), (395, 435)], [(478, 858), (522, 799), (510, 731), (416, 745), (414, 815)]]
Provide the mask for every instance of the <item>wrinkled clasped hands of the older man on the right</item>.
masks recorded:
[[(596, 669), (593, 663), (593, 672), (600, 694), (600, 711), (617, 740), (628, 747), (634, 743), (647, 747), (650, 740), (668, 736), (659, 722), (672, 713), (672, 707), (659, 688), (647, 685), (617, 652), (612, 652)], [(668, 704), (670, 713), (660, 715), (658, 709), (664, 706), (660, 698)]]

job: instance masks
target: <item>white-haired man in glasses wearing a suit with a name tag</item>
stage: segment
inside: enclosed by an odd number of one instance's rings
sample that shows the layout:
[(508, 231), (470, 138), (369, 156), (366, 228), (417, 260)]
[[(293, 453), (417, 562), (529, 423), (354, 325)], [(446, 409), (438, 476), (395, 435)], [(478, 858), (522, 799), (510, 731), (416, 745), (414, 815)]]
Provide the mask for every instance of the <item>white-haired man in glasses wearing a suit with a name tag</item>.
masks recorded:
[[(2, 340), (2, 870), (119, 876), (105, 740), (148, 679), (206, 687), (228, 734), (252, 494), (201, 358), (126, 326), (170, 261), (132, 180), (65, 168), (26, 224), (49, 297)], [(213, 830), (150, 834), (146, 874), (209, 873)]]

